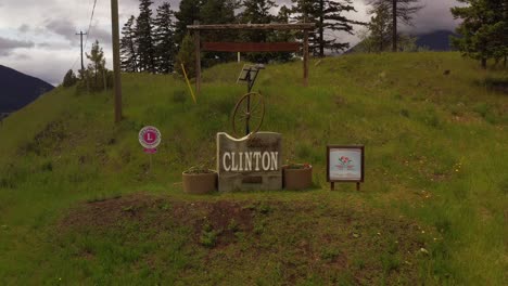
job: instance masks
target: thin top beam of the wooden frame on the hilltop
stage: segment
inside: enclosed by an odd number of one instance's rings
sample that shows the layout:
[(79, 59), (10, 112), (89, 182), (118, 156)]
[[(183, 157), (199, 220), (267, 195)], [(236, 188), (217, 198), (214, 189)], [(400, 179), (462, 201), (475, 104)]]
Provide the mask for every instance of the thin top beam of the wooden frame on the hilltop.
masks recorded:
[(189, 25), (190, 30), (312, 30), (316, 28), (315, 23), (297, 23), (297, 24), (217, 24), (217, 25)]

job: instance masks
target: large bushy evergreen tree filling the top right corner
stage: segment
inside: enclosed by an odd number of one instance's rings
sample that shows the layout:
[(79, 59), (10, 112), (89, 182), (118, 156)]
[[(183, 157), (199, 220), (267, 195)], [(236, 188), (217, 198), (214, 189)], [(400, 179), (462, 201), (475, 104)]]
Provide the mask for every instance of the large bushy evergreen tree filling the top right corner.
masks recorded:
[(466, 6), (452, 8), (455, 18), (463, 20), (457, 27), (460, 38), (453, 38), (463, 55), (480, 60), (486, 68), (488, 58), (508, 56), (508, 2), (503, 0), (459, 0)]

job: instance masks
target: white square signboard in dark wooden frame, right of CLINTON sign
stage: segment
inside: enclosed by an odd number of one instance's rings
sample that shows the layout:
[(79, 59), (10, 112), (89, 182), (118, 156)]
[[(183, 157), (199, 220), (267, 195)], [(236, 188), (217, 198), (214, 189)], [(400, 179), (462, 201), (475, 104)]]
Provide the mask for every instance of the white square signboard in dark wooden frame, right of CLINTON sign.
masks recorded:
[(364, 182), (365, 177), (365, 147), (364, 146), (327, 146), (327, 181), (331, 190), (335, 182)]

